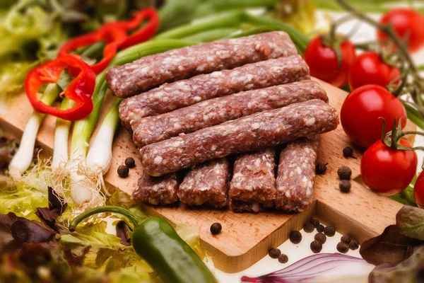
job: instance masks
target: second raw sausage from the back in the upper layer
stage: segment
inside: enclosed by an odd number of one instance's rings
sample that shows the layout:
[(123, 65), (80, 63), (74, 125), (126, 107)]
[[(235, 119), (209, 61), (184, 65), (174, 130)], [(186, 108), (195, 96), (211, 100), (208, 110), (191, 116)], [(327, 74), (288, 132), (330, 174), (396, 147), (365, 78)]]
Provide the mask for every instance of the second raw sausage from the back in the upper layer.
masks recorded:
[(119, 105), (119, 117), (126, 129), (136, 130), (143, 117), (170, 112), (200, 101), (240, 91), (266, 88), (310, 79), (306, 62), (299, 56), (280, 57), (231, 70), (215, 71), (192, 79), (165, 83), (159, 88), (126, 98)]

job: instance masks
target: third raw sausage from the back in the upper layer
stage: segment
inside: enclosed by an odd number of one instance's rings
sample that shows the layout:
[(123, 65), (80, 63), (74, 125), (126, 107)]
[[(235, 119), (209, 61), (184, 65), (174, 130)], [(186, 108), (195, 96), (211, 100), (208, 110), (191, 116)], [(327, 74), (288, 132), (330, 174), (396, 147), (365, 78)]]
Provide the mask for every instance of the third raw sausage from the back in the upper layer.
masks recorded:
[(300, 81), (269, 88), (235, 93), (140, 120), (133, 139), (139, 148), (164, 139), (188, 134), (228, 120), (264, 110), (281, 108), (311, 99), (328, 102), (326, 92), (316, 81)]

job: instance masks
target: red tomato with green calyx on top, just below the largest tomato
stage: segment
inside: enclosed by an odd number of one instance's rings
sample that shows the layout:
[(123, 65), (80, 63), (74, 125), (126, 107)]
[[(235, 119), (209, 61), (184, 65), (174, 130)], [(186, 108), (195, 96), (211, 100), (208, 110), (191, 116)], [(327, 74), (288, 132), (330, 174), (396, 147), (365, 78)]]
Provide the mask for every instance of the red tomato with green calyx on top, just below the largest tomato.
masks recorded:
[[(411, 147), (401, 139), (401, 144)], [(415, 151), (391, 149), (377, 141), (360, 161), (360, 173), (365, 185), (382, 195), (395, 195), (408, 187), (417, 170)]]

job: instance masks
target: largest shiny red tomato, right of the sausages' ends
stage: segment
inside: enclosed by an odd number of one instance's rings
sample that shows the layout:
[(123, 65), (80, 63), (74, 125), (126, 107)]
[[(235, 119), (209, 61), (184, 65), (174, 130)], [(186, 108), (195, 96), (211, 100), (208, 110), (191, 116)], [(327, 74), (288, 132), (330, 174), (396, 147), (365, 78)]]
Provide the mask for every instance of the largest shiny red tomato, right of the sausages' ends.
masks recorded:
[(344, 131), (359, 146), (368, 147), (381, 139), (383, 117), (386, 132), (393, 126), (394, 118), (406, 125), (404, 105), (381, 86), (369, 84), (349, 93), (341, 106), (340, 120)]

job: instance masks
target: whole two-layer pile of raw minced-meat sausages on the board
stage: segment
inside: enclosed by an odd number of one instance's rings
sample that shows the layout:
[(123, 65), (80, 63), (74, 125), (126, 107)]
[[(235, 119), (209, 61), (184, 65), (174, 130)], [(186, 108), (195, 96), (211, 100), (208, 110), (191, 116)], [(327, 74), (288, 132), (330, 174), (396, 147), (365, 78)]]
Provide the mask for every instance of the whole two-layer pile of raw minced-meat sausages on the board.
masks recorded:
[[(109, 69), (114, 94), (133, 96), (119, 115), (141, 153), (134, 198), (211, 207), (230, 201), (235, 211), (305, 209), (313, 198), (317, 134), (335, 129), (338, 116), (296, 53), (287, 34), (273, 32)], [(273, 146), (281, 144), (288, 145), (276, 178)], [(225, 157), (233, 154), (240, 154), (234, 163)], [(176, 172), (187, 168), (180, 183)]]

